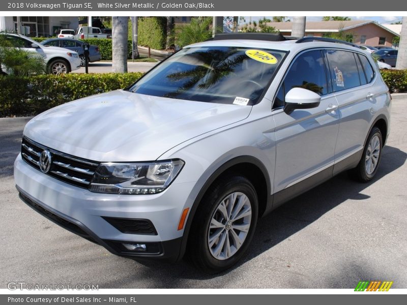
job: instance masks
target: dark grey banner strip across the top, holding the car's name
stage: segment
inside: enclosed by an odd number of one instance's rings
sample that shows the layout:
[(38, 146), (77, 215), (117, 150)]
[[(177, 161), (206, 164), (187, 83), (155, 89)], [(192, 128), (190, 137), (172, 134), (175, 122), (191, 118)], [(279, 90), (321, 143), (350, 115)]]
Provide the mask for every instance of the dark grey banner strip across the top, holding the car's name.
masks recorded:
[[(375, 5), (375, 3), (377, 6)], [(372, 0), (308, 0), (297, 2), (278, 2), (267, 0), (20, 0), (0, 3), (0, 11), (366, 11), (379, 8), (381, 11), (407, 11), (407, 1), (387, 0), (386, 5)]]

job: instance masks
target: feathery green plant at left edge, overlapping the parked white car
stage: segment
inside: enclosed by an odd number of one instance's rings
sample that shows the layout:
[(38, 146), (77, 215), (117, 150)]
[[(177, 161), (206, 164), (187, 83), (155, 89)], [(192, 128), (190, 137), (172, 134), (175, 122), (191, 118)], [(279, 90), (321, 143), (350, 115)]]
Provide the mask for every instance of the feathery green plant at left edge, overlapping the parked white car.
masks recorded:
[(27, 76), (45, 73), (45, 60), (40, 54), (24, 50), (17, 40), (0, 33), (0, 74)]

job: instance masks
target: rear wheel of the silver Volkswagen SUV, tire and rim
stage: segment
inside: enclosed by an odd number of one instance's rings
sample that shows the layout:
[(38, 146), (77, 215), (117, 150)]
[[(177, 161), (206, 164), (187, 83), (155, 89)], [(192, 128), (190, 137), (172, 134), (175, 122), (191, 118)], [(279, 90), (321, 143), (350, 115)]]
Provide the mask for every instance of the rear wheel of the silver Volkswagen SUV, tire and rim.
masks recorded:
[(379, 128), (373, 127), (363, 149), (362, 158), (358, 166), (352, 170), (352, 176), (361, 182), (370, 181), (379, 168), (382, 150), (382, 132)]

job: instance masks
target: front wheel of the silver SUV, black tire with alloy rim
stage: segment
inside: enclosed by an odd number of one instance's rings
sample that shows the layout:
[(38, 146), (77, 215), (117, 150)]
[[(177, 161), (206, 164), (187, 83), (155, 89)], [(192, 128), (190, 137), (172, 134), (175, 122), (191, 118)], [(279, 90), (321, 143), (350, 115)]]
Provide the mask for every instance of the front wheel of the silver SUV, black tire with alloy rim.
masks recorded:
[(236, 264), (253, 237), (257, 214), (257, 194), (246, 177), (236, 174), (216, 180), (203, 196), (191, 226), (192, 263), (209, 274)]

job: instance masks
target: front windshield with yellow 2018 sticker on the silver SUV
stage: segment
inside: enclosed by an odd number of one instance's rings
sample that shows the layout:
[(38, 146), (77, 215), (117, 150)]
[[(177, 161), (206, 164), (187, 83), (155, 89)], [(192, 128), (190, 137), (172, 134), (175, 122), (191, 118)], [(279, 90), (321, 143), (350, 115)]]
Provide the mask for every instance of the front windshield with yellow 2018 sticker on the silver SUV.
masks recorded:
[(254, 105), (285, 54), (261, 48), (185, 48), (133, 84), (129, 91), (190, 101)]

